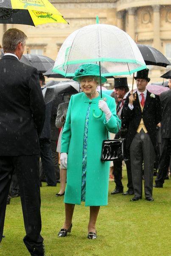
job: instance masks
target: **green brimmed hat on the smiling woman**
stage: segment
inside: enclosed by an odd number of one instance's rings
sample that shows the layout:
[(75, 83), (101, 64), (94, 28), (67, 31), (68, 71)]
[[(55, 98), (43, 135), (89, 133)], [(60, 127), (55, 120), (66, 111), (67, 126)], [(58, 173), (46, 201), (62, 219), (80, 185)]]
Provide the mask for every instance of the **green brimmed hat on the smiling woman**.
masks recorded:
[[(82, 76), (98, 76), (99, 75), (99, 65), (87, 63), (81, 65), (74, 73), (75, 77), (73, 78), (74, 81), (79, 81), (79, 78)], [(107, 79), (104, 76), (101, 76), (101, 82), (105, 83)]]

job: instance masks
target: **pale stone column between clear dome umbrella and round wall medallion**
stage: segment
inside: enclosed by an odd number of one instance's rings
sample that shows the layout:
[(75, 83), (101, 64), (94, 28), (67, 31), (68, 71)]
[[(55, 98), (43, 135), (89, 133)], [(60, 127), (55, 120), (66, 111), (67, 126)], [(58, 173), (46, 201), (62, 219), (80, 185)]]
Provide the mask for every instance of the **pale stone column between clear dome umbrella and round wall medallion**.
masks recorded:
[(132, 7), (128, 9), (128, 27), (127, 33), (135, 41), (135, 11), (137, 8)]

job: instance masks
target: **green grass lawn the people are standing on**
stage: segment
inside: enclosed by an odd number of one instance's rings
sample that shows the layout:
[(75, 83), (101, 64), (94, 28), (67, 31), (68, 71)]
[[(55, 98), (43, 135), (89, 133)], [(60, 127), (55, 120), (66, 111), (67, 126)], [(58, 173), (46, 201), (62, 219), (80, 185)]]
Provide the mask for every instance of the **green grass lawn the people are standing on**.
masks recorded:
[[(123, 184), (126, 190), (126, 171)], [(143, 199), (130, 202), (132, 196), (110, 195), (101, 207), (97, 221), (98, 239), (87, 239), (89, 207), (76, 206), (72, 232), (66, 238), (57, 234), (64, 221), (63, 197), (56, 198), (58, 187), (41, 188), (42, 236), (47, 256), (171, 256), (171, 180), (163, 189), (153, 190), (154, 202)], [(22, 242), (25, 236), (20, 198), (7, 206), (1, 256), (30, 255)]]

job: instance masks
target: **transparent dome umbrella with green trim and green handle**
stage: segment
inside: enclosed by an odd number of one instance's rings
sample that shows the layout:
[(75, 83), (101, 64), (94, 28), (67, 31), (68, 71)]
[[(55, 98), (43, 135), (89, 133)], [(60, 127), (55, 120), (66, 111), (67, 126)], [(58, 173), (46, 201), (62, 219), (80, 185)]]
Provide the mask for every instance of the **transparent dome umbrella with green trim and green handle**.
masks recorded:
[(146, 68), (140, 50), (126, 32), (99, 23), (77, 29), (66, 38), (59, 49), (53, 72), (72, 77), (85, 63), (99, 64), (100, 76), (131, 75)]

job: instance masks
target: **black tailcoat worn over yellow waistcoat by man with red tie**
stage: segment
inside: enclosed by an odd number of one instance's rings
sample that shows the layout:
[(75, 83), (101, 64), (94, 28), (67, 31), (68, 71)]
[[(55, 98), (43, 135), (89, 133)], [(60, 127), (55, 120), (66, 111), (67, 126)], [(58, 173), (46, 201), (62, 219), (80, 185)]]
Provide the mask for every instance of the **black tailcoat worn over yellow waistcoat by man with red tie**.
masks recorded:
[(121, 119), (123, 119), (123, 124), (128, 127), (128, 135), (126, 140), (127, 148), (129, 148), (133, 138), (135, 137), (141, 118), (143, 118), (144, 125), (146, 126), (154, 148), (156, 148), (156, 126), (161, 121), (161, 105), (159, 96), (155, 95), (155, 98), (152, 98), (150, 95), (151, 93), (147, 90), (143, 112), (140, 108), (138, 95), (133, 103), (133, 110), (130, 110), (128, 107), (129, 95), (125, 100), (121, 113)]

